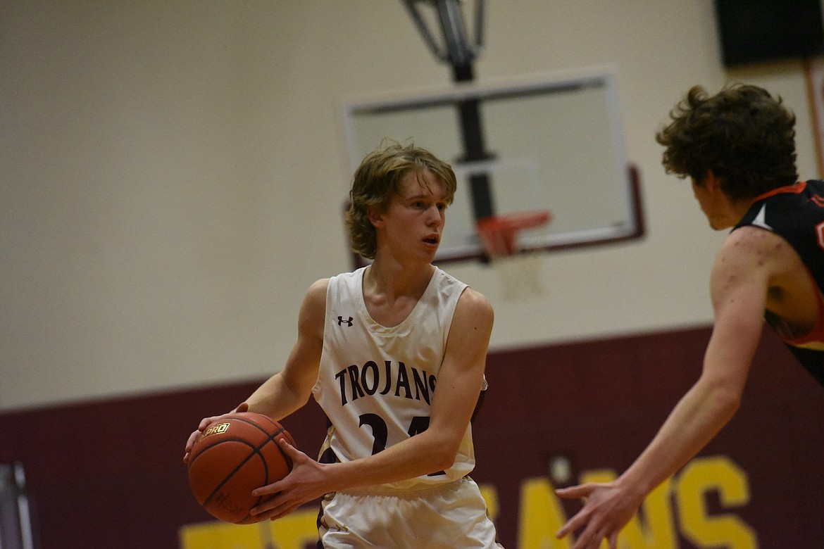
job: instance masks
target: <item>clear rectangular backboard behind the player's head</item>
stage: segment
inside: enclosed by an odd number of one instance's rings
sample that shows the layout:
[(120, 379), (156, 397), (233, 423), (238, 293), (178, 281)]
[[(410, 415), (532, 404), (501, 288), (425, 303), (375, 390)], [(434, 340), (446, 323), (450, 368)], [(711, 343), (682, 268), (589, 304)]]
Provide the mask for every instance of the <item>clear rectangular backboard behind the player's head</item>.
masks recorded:
[[(461, 105), (468, 102), (478, 109), (480, 160), (466, 161)], [(387, 137), (414, 142), (452, 164), (458, 189), (436, 263), (485, 258), (475, 222), (490, 214), (550, 212), (549, 224), (519, 235), (522, 251), (643, 235), (637, 174), (626, 159), (609, 67), (360, 98), (344, 105), (343, 118), (351, 172)], [(478, 176), (489, 186), (480, 198), (473, 192)]]

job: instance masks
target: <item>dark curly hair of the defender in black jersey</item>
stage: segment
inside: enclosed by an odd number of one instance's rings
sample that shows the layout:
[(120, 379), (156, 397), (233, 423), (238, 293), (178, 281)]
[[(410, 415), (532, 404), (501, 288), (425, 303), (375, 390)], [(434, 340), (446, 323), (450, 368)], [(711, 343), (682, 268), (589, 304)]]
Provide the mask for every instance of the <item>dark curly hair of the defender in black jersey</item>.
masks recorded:
[(733, 84), (710, 96), (693, 86), (655, 135), (666, 147), (667, 174), (702, 184), (708, 170), (723, 178), (732, 200), (756, 198), (796, 183), (795, 115), (760, 87)]

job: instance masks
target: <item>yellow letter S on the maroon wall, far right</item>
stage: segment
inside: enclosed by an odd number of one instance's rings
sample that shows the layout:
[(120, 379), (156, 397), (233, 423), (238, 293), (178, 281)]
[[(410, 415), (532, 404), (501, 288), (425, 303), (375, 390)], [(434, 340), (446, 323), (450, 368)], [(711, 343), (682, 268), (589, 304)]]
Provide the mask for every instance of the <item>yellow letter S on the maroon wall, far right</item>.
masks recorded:
[(755, 530), (734, 514), (710, 516), (705, 494), (717, 491), (724, 508), (740, 507), (750, 500), (747, 472), (726, 456), (695, 458), (678, 475), (676, 498), (681, 534), (698, 547), (753, 549)]

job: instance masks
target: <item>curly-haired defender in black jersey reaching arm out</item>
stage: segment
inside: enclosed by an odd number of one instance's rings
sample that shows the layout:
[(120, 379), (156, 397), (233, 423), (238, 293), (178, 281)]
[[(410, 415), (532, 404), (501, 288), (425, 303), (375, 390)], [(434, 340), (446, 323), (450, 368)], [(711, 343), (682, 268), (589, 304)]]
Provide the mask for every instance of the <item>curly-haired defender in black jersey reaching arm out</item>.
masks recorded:
[(614, 482), (557, 491), (585, 500), (558, 532), (583, 528), (573, 549), (602, 538), (615, 549), (644, 497), (729, 421), (764, 320), (824, 384), (824, 182), (797, 182), (794, 114), (739, 84), (714, 96), (695, 86), (671, 116), (656, 136), (667, 173), (691, 179), (709, 226), (733, 228), (710, 277), (712, 337), (700, 378), (630, 468)]

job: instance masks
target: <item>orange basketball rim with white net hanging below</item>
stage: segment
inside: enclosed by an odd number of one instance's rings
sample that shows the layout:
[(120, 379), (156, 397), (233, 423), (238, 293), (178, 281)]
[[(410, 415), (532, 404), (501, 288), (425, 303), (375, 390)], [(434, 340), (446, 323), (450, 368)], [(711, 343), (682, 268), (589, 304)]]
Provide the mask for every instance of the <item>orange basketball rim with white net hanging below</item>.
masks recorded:
[(482, 217), (475, 223), (489, 265), (499, 274), (504, 298), (515, 300), (543, 293), (542, 258), (524, 254), (518, 242), (522, 230), (545, 226), (550, 212), (533, 210)]

